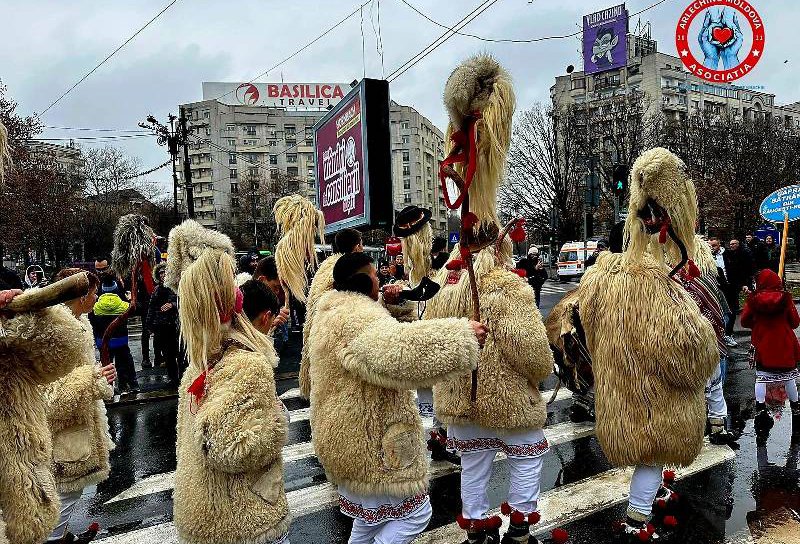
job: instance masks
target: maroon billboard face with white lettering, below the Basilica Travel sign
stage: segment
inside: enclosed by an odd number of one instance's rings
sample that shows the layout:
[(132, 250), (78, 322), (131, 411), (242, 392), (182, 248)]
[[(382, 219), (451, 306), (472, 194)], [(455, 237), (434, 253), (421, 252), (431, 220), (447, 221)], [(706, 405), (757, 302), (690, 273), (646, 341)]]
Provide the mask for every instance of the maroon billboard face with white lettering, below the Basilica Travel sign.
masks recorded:
[(343, 100), (315, 131), (319, 208), (326, 232), (369, 222), (362, 92)]

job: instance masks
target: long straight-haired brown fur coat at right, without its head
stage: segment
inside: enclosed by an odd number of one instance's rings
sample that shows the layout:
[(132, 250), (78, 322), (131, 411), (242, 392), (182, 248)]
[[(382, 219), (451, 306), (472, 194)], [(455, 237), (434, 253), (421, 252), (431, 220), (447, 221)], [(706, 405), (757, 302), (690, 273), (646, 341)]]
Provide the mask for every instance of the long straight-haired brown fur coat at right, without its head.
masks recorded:
[(690, 464), (703, 443), (706, 381), (719, 363), (711, 324), (650, 257), (603, 252), (580, 291), (597, 438), (608, 460)]

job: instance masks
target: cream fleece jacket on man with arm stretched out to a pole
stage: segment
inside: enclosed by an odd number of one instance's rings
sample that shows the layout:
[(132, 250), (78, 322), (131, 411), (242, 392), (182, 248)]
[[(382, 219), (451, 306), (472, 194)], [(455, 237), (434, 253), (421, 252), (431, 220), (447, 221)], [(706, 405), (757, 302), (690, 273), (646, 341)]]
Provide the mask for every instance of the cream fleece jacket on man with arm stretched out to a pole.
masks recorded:
[(369, 297), (329, 291), (311, 329), (311, 428), (328, 479), (361, 495), (427, 491), (411, 389), (468, 376), (478, 341), (466, 319), (401, 323)]

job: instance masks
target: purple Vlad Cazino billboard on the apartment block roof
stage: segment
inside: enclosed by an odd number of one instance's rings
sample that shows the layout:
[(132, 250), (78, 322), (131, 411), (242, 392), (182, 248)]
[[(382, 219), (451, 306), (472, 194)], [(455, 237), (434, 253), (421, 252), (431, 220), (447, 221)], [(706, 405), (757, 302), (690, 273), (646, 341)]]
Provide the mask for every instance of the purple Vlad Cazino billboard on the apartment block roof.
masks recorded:
[(628, 60), (628, 10), (625, 4), (583, 16), (583, 71), (619, 69)]

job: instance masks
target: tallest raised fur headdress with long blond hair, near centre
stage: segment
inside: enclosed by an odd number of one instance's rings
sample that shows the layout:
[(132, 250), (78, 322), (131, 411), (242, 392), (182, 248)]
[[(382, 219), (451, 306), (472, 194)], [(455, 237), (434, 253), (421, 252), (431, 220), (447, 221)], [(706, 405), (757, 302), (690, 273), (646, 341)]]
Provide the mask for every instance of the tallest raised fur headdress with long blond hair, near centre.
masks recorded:
[[(497, 190), (511, 145), (516, 107), (511, 76), (491, 55), (471, 57), (447, 79), (444, 105), (450, 117), (447, 142), (454, 132), (465, 128), (469, 116), (480, 114), (476, 122), (477, 170), (469, 188), (470, 211), (481, 221), (497, 223)], [(464, 164), (456, 165), (455, 169), (464, 177)]]

